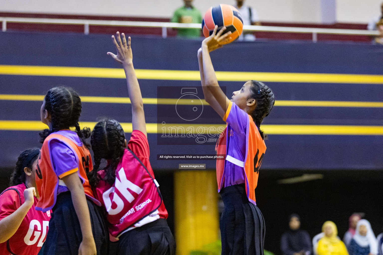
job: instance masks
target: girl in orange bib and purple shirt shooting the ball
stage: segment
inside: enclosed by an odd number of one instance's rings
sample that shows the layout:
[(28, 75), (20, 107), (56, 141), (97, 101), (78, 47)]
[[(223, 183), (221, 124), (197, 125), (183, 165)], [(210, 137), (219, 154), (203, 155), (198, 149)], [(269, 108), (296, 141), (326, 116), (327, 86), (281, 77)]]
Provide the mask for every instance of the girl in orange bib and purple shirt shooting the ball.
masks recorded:
[(262, 120), (270, 113), (274, 94), (260, 81), (247, 81), (234, 91), (232, 99), (219, 88), (210, 52), (230, 41), (231, 32), (223, 27), (203, 40), (198, 50), (201, 84), (206, 102), (226, 122), (226, 129), (218, 140), (218, 192), (224, 202), (220, 219), (222, 255), (263, 255), (265, 223), (255, 203), (259, 168), (266, 146), (266, 135), (260, 130)]

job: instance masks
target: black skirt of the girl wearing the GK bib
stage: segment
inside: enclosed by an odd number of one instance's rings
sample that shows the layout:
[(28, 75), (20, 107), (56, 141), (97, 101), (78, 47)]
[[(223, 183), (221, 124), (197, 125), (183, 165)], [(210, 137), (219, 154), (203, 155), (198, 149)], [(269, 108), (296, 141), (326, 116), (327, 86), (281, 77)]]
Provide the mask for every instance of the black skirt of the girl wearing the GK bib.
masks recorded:
[(175, 255), (175, 241), (166, 219), (125, 232), (110, 248), (110, 255)]

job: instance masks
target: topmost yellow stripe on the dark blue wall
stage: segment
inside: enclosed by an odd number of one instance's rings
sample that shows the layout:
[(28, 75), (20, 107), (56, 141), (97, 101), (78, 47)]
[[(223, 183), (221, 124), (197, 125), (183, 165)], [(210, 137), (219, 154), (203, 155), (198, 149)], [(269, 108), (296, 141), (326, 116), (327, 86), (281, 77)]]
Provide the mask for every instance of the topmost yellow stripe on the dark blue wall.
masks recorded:
[[(125, 78), (121, 68), (0, 65), (2, 75)], [(199, 81), (199, 71), (136, 69), (138, 79)], [(383, 75), (216, 71), (218, 81), (383, 84)]]

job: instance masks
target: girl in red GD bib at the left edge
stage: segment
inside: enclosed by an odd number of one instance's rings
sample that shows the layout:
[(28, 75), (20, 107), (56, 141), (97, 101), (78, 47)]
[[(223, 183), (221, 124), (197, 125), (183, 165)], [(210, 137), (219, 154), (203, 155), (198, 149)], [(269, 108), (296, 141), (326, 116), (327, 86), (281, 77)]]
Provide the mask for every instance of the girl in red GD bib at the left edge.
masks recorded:
[(0, 255), (37, 255), (48, 231), (51, 211), (35, 210), (36, 165), (40, 150), (23, 151), (11, 175), (11, 187), (0, 195)]

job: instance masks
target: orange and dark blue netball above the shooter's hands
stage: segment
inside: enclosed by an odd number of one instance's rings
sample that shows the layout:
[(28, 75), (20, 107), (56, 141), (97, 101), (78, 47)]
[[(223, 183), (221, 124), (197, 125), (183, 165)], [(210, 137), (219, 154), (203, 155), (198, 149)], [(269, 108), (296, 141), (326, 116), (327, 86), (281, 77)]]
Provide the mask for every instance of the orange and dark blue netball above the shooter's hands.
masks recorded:
[(210, 7), (206, 11), (205, 16), (202, 20), (202, 31), (205, 37), (209, 37), (214, 30), (214, 27), (218, 25), (217, 32), (223, 27), (226, 27), (226, 30), (223, 34), (231, 31), (229, 42), (231, 43), (238, 36), (242, 34), (243, 21), (239, 11), (234, 8), (234, 6), (220, 4), (213, 7)]

